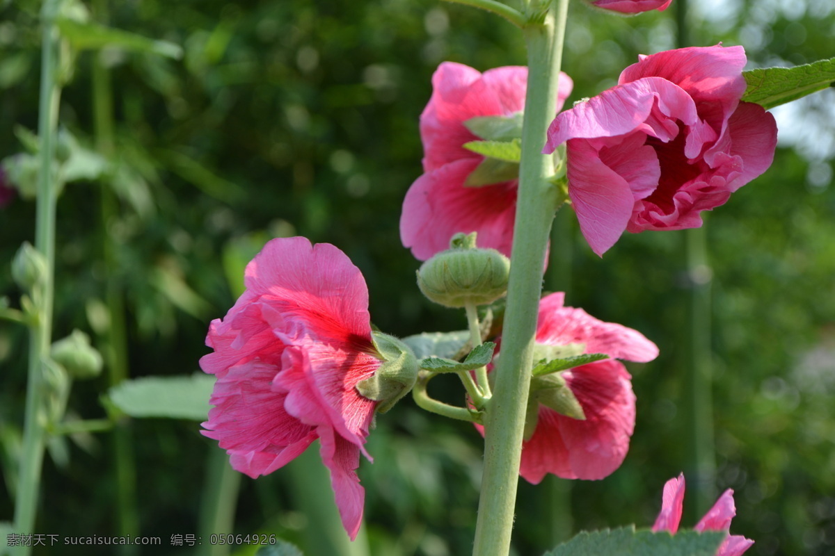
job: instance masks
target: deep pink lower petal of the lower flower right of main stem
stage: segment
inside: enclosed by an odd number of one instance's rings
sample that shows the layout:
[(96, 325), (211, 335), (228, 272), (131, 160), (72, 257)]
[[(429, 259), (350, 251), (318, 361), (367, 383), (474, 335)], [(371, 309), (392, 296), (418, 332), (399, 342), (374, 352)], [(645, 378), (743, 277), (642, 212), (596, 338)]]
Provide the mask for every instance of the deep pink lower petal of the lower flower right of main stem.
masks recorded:
[(595, 480), (620, 467), (635, 428), (635, 394), (623, 363), (606, 360), (564, 373), (585, 420), (539, 407), (534, 435), (522, 447), (519, 474), (539, 483), (545, 473)]

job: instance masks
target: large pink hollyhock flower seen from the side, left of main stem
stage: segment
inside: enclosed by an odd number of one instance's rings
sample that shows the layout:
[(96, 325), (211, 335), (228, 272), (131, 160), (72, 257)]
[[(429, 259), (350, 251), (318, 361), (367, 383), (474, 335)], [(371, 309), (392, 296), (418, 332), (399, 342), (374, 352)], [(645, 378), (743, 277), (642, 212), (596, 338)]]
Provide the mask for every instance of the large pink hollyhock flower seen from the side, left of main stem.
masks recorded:
[(201, 431), (233, 468), (272, 473), (316, 438), (351, 538), (365, 491), (356, 469), (377, 402), (357, 383), (382, 364), (372, 343), (368, 290), (345, 253), (306, 238), (267, 243), (246, 267), (246, 291), (206, 344), (200, 367), (217, 377)]

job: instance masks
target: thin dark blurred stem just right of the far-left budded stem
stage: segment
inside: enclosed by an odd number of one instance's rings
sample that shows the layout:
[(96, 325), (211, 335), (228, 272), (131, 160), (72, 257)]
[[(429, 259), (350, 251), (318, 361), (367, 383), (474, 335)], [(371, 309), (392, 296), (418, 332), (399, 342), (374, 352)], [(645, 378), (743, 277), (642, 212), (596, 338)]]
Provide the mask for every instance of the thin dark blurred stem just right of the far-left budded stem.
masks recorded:
[[(108, 0), (95, 0), (94, 15), (101, 23), (107, 23)], [(108, 68), (104, 67), (99, 53), (94, 54), (93, 80), (93, 125), (96, 149), (106, 158), (114, 155), (113, 87)], [(104, 178), (107, 179), (107, 178)], [(102, 228), (102, 252), (104, 268), (120, 268), (115, 260), (117, 250), (109, 227), (117, 217), (118, 203), (108, 183), (100, 183), (100, 225)], [(128, 377), (127, 333), (124, 322), (124, 299), (119, 281), (112, 274), (105, 278), (105, 296), (108, 308), (109, 327), (104, 332), (109, 387), (113, 388)], [(119, 534), (135, 536), (139, 533), (139, 515), (136, 512), (136, 489), (134, 448), (130, 430), (119, 423), (113, 431), (113, 457), (115, 475), (116, 507)], [(120, 547), (124, 555), (137, 553), (134, 545)]]

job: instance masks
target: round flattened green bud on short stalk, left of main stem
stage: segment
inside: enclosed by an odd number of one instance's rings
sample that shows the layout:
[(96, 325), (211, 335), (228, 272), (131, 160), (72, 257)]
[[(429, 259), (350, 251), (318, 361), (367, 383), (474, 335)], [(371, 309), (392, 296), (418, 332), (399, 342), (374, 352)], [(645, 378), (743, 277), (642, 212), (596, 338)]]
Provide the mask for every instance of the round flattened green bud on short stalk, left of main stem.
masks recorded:
[(486, 305), (508, 291), (510, 261), (495, 249), (475, 247), (476, 234), (457, 233), (450, 248), (423, 263), (417, 287), (446, 307)]

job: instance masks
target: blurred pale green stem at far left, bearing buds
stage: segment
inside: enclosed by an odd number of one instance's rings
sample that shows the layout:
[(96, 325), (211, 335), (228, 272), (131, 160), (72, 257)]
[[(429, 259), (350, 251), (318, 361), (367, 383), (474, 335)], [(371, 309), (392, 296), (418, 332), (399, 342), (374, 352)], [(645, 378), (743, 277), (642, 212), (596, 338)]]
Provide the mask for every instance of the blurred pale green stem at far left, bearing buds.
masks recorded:
[[(55, 15), (60, 0), (47, 0), (41, 11), (43, 44), (41, 52), (41, 88), (38, 107), (38, 137), (40, 138), (40, 173), (38, 175), (38, 205), (36, 208), (35, 248), (47, 261), (47, 270), (39, 291), (33, 292), (38, 308), (29, 343), (29, 368), (26, 391), (26, 415), (23, 423), (23, 449), (18, 477), (18, 499), (14, 511), (14, 529), (18, 533), (34, 533), (38, 490), (43, 466), (43, 446), (46, 437), (46, 408), (44, 406), (43, 362), (49, 358), (52, 343), (53, 293), (55, 273), (55, 211), (58, 204), (57, 184), (54, 183), (55, 130), (58, 127), (60, 88), (57, 83), (58, 29)], [(32, 547), (18, 547), (16, 553), (28, 555)]]

